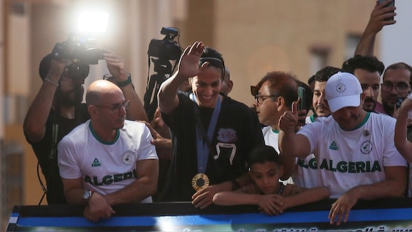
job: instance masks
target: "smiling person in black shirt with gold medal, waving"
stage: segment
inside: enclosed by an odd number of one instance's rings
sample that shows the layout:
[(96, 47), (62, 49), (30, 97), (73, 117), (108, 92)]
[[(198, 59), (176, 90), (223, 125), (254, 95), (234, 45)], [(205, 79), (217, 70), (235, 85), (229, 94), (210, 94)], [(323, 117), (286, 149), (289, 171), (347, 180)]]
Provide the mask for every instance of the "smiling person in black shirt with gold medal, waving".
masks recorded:
[[(264, 144), (261, 126), (249, 107), (219, 94), (224, 71), (222, 55), (195, 42), (160, 86), (158, 106), (174, 148), (162, 201), (191, 201), (203, 209), (215, 193), (251, 182), (246, 157)], [(178, 91), (187, 79), (190, 94)]]

